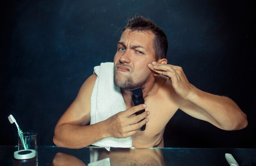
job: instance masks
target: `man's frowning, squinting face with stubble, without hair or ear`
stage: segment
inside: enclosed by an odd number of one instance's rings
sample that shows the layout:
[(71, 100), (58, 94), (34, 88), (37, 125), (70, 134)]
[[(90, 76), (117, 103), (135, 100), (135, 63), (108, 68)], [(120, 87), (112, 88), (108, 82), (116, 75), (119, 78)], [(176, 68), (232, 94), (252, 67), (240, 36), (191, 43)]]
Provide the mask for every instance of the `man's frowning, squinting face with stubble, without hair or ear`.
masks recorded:
[(155, 61), (153, 39), (154, 34), (146, 31), (123, 32), (114, 58), (115, 85), (125, 89), (143, 88), (153, 77), (148, 68), (148, 63)]

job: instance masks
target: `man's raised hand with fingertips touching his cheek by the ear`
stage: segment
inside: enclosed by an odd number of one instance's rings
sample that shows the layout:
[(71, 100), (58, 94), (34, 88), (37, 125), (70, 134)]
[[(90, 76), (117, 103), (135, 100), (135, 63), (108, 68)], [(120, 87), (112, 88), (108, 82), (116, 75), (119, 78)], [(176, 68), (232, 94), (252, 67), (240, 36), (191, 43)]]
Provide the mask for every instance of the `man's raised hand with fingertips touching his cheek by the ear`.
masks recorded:
[(186, 75), (184, 74), (182, 67), (157, 63), (155, 61), (148, 64), (148, 68), (158, 74), (169, 77), (175, 92), (185, 100), (189, 100), (192, 90), (195, 88), (189, 83)]

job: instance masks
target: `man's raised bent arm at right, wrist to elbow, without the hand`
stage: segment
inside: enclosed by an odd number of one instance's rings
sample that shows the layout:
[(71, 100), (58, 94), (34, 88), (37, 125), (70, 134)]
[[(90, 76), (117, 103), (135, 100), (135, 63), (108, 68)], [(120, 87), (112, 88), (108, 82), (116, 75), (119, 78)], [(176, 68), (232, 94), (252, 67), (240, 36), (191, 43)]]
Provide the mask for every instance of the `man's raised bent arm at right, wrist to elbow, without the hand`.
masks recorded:
[(180, 109), (192, 117), (208, 121), (223, 130), (240, 130), (247, 126), (247, 117), (238, 105), (225, 96), (203, 92), (197, 88)]

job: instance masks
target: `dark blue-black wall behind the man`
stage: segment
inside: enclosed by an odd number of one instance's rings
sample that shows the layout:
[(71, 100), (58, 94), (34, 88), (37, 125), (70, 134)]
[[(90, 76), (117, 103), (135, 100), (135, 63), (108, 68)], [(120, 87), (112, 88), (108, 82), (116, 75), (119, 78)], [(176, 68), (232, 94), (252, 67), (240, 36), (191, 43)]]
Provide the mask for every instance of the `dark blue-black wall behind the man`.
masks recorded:
[(182, 66), (201, 90), (229, 96), (249, 125), (224, 131), (178, 110), (166, 147), (256, 148), (255, 6), (251, 1), (12, 0), (2, 5), (0, 145), (17, 129), (53, 145), (54, 127), (101, 62), (112, 61), (126, 19), (140, 13), (168, 37), (168, 63)]

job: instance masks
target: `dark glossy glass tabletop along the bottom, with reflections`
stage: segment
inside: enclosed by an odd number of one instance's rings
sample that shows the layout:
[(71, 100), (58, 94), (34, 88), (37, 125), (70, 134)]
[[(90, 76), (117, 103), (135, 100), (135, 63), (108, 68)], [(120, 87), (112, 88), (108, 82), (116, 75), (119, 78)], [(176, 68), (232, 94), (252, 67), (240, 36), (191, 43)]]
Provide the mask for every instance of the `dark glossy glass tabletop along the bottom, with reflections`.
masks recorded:
[[(13, 165), (16, 146), (0, 146), (0, 163)], [(243, 148), (105, 148), (38, 147), (38, 166), (229, 166), (230, 153), (240, 166), (256, 165), (256, 149)]]

